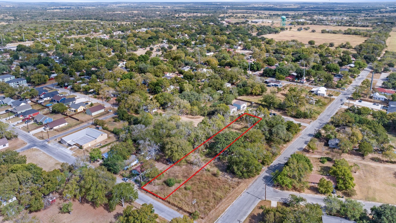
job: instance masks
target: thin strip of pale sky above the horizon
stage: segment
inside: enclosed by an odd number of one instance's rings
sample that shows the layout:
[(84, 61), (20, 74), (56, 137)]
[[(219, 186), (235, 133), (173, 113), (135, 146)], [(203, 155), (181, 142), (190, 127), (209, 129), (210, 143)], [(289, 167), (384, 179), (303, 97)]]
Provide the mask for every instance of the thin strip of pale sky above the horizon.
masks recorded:
[[(6, 2), (10, 2), (7, 0)], [(11, 2), (277, 2), (275, 0), (13, 0)], [(396, 0), (282, 0), (282, 2), (396, 2)]]

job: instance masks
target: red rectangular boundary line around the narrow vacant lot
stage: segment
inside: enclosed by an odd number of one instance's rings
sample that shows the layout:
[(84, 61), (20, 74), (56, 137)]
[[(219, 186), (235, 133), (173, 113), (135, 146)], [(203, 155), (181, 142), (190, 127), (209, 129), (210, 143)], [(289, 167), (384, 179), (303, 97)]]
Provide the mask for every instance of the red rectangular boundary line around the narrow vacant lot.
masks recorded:
[[(217, 134), (219, 134), (221, 131), (223, 131), (224, 129), (226, 129), (228, 126), (230, 126), (232, 123), (234, 123), (236, 120), (240, 119), (242, 116), (244, 115), (249, 115), (252, 117), (256, 117), (258, 119), (260, 119), (259, 121), (261, 121), (263, 118), (261, 117), (257, 117), (255, 115), (251, 115), (249, 113), (243, 113), (241, 116), (239, 116), (238, 118), (236, 118), (234, 121), (232, 121), (230, 124), (228, 124), (226, 127), (224, 127), (223, 129), (221, 129), (220, 131), (218, 131), (215, 135), (211, 136), (210, 138), (208, 138), (208, 140), (206, 140), (205, 142), (203, 142), (202, 144), (200, 144), (197, 148), (195, 148), (194, 150), (192, 150), (191, 152), (189, 152), (187, 155), (185, 155), (183, 158), (181, 158), (180, 160), (178, 160), (177, 162), (175, 162), (173, 165), (171, 165), (170, 167), (168, 167), (166, 170), (164, 170), (162, 173), (165, 173), (168, 169), (170, 169), (171, 167), (173, 167), (174, 165), (176, 165), (178, 162), (180, 162), (181, 160), (183, 160), (184, 158), (186, 158), (186, 156), (190, 155), (192, 152), (194, 152), (196, 149), (198, 149), (200, 146), (202, 146), (203, 144), (205, 144), (206, 142), (208, 142), (211, 138), (213, 138), (214, 136), (216, 136)], [(256, 123), (254, 123), (249, 129), (247, 129), (244, 133), (242, 133), (242, 135), (238, 136), (238, 138), (236, 138), (234, 141), (232, 141), (226, 148), (224, 148), (223, 150), (221, 150), (221, 152), (219, 152), (219, 154), (217, 154), (215, 157), (213, 157), (208, 163), (206, 163), (203, 167), (201, 167), (201, 169), (199, 169), (198, 171), (196, 171), (190, 178), (188, 178), (186, 181), (184, 181), (180, 186), (178, 186), (175, 190), (173, 190), (168, 196), (166, 196), (165, 198), (151, 192), (150, 190), (145, 189), (144, 187), (146, 185), (148, 185), (149, 183), (151, 183), (152, 181), (154, 181), (157, 177), (159, 177), (162, 173), (160, 173), (158, 176), (154, 177), (154, 179), (152, 179), (151, 181), (148, 181), (147, 184), (143, 185), (141, 188), (147, 192), (149, 192), (150, 194), (153, 194), (154, 196), (157, 196), (158, 198), (161, 198), (162, 200), (165, 200), (166, 198), (168, 198), (169, 196), (171, 196), (176, 190), (178, 190), (181, 186), (183, 186), (185, 183), (187, 183), (187, 181), (189, 181), (192, 177), (194, 177), (199, 171), (201, 171), (202, 169), (204, 169), (204, 167), (206, 167), (206, 165), (208, 165), (211, 161), (213, 161), (217, 156), (219, 156), (222, 152), (224, 152), (224, 150), (226, 150), (228, 147), (230, 147), (234, 142), (236, 142), (236, 140), (238, 140), (240, 137), (242, 137), (245, 133), (247, 133), (247, 131), (249, 131), (251, 128), (253, 128), (253, 126), (255, 126), (257, 123), (259, 123), (259, 121), (257, 121)]]

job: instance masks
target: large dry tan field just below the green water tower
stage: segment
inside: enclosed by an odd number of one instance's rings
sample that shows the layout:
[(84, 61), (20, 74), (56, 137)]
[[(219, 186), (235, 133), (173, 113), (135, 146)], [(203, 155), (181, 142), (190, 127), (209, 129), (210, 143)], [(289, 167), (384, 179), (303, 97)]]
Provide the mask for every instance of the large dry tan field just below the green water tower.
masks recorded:
[[(293, 27), (294, 29), (297, 29)], [(343, 34), (332, 34), (332, 33), (312, 33), (310, 31), (283, 31), (280, 34), (269, 34), (265, 35), (264, 37), (266, 38), (274, 38), (276, 41), (281, 41), (281, 40), (299, 40), (300, 42), (303, 42), (305, 44), (308, 44), (309, 40), (315, 40), (315, 44), (319, 45), (322, 43), (329, 43), (329, 42), (334, 42), (335, 46), (345, 43), (345, 42), (350, 42), (352, 46), (356, 46), (358, 44), (361, 44), (366, 40), (366, 37), (360, 37), (360, 36), (353, 36), (353, 35), (343, 35)]]

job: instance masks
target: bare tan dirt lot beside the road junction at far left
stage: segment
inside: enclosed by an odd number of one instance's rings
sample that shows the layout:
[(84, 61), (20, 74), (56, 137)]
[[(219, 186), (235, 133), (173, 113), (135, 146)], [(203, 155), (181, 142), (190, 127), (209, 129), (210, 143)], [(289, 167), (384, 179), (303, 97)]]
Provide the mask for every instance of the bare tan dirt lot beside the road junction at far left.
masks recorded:
[(39, 167), (43, 168), (46, 171), (51, 171), (53, 169), (61, 167), (61, 162), (55, 160), (51, 156), (36, 148), (31, 148), (29, 150), (23, 151), (20, 153), (20, 155), (26, 156), (27, 163), (37, 164)]

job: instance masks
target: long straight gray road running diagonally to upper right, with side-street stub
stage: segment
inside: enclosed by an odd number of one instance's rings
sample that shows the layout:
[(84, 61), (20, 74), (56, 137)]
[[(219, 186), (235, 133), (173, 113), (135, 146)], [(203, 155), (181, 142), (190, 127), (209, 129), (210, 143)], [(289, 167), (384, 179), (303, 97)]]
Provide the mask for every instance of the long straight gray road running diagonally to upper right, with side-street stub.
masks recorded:
[[(367, 74), (370, 72), (369, 68), (364, 69), (358, 78), (350, 85), (345, 91), (327, 106), (327, 108), (319, 115), (318, 119), (313, 121), (308, 127), (301, 131), (301, 135), (296, 138), (284, 152), (272, 162), (268, 168), (261, 173), (259, 177), (242, 194), (227, 208), (227, 210), (217, 219), (217, 223), (238, 223), (244, 221), (253, 208), (262, 200), (265, 194), (265, 184), (267, 184), (267, 199), (281, 199), (287, 198), (290, 192), (284, 192), (276, 190), (271, 187), (272, 185), (272, 173), (276, 170), (281, 170), (284, 163), (289, 159), (291, 154), (298, 150), (303, 150), (307, 146), (309, 140), (314, 135), (315, 129), (321, 129), (333, 116), (339, 108), (341, 108), (341, 99), (349, 97), (353, 91), (354, 87), (360, 85), (362, 81), (366, 78)], [(323, 196), (318, 196), (318, 198), (323, 199)], [(277, 200), (278, 200), (277, 199)], [(314, 199), (313, 196), (307, 195), (308, 202), (318, 202), (320, 199)]]

